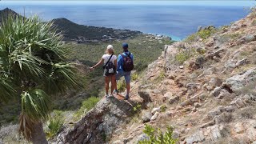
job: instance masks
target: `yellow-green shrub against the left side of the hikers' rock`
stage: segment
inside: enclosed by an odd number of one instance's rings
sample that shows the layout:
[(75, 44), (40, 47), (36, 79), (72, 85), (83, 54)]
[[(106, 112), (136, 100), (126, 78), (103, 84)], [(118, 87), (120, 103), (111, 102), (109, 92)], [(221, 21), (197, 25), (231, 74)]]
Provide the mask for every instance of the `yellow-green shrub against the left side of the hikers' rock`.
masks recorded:
[(98, 97), (90, 97), (84, 100), (80, 109), (74, 114), (75, 120), (78, 120), (82, 115), (86, 114), (87, 111), (94, 108), (99, 100), (100, 98)]

